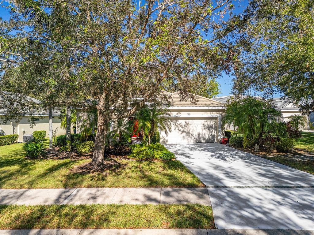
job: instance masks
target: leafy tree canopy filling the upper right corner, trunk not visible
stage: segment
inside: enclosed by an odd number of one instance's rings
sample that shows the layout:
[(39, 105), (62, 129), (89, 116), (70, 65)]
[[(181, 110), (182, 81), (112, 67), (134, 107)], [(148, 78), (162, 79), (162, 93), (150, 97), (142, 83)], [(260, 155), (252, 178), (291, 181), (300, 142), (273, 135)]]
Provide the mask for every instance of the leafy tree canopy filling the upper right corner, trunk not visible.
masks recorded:
[(314, 1), (262, 2), (250, 2), (263, 7), (242, 32), (249, 44), (234, 91), (255, 91), (265, 97), (281, 93), (309, 114), (314, 111)]

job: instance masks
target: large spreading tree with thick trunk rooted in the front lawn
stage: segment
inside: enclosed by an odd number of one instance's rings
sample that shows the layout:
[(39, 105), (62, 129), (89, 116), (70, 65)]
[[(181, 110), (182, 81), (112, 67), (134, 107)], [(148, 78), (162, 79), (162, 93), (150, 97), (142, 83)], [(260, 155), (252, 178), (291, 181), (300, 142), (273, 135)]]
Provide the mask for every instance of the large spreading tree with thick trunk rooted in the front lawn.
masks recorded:
[[(25, 8), (25, 3), (37, 4), (36, 11), (33, 6)], [(255, 10), (251, 7), (244, 14), (234, 15), (228, 0), (16, 2), (18, 7), (21, 4), (24, 7), (19, 11), (33, 12), (33, 21), (42, 14), (51, 20), (52, 13), (71, 16), (64, 30), (72, 33), (66, 34), (66, 38), (60, 35), (61, 41), (66, 39), (66, 50), (76, 55), (72, 57), (74, 63), (70, 60), (65, 64), (67, 68), (73, 66), (75, 80), (68, 80), (71, 76), (67, 74), (62, 76), (64, 84), (74, 83), (84, 93), (80, 97), (97, 100), (98, 123), (91, 166), (105, 163), (104, 143), (111, 119), (133, 115), (148, 101), (169, 102), (162, 92), (164, 82), (176, 86), (182, 99), (197, 102), (188, 93), (195, 86), (191, 85), (193, 77), (215, 78), (222, 71), (237, 70), (237, 54), (243, 40), (234, 33)], [(18, 14), (14, 20), (34, 24)], [(59, 38), (55, 33), (52, 37)], [(38, 34), (42, 37), (41, 32), (31, 28), (24, 32), (24, 37), (19, 36), (24, 39)], [(9, 57), (3, 60), (12, 62)], [(19, 62), (14, 66), (20, 65)]]

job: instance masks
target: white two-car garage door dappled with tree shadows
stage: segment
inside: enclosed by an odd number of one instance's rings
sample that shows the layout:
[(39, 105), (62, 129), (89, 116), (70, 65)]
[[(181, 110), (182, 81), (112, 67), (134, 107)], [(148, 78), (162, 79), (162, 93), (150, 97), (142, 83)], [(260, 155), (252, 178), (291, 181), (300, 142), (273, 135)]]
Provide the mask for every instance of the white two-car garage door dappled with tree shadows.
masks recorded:
[(215, 118), (177, 118), (172, 120), (168, 136), (161, 132), (161, 143), (215, 142), (217, 121)]

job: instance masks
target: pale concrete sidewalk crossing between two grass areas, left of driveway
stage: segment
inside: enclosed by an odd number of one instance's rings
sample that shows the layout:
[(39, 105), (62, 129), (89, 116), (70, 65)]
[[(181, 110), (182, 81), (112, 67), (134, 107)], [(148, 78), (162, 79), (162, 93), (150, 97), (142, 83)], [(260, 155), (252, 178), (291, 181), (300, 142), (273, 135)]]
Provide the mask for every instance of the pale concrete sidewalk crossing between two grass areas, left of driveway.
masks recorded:
[(210, 206), (206, 188), (1, 189), (0, 204), (187, 204)]

